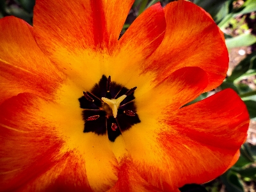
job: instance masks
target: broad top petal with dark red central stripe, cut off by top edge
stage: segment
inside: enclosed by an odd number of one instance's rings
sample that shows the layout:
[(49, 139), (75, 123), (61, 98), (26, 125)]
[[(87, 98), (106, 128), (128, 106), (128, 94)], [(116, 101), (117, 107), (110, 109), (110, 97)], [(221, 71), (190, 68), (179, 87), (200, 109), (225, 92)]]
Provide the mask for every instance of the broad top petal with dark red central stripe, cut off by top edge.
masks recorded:
[(36, 1), (36, 42), (74, 83), (92, 88), (106, 74), (109, 54), (116, 47), (132, 3)]

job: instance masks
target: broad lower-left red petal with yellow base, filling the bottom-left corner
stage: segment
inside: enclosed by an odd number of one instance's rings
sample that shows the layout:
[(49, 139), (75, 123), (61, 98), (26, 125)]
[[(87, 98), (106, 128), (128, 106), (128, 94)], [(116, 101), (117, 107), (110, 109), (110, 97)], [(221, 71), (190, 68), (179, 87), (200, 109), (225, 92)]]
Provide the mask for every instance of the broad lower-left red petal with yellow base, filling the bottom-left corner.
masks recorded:
[(1, 104), (1, 191), (106, 191), (115, 185), (118, 162), (108, 136), (83, 133), (78, 100), (77, 106), (31, 93)]

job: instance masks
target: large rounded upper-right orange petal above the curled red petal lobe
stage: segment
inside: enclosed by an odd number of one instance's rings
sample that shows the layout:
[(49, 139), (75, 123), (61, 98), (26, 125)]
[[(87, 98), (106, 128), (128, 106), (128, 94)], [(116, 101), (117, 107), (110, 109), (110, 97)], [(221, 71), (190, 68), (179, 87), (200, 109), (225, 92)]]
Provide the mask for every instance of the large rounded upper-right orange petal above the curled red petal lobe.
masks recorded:
[(223, 34), (202, 8), (188, 1), (175, 1), (164, 8), (166, 32), (162, 44), (148, 58), (145, 71), (156, 72), (161, 81), (178, 68), (195, 66), (207, 72), (205, 92), (223, 82), (228, 52)]

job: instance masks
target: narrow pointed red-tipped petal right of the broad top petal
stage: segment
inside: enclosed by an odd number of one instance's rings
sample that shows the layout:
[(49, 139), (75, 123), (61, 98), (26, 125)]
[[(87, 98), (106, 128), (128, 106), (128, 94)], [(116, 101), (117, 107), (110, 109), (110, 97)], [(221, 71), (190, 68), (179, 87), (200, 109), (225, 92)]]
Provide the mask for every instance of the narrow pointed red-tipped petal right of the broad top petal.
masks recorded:
[[(140, 76), (141, 67), (161, 44), (165, 28), (166, 22), (161, 4), (156, 3), (147, 8), (132, 22), (118, 41), (116, 54), (109, 62), (111, 77), (125, 86), (134, 86), (136, 83), (136, 86), (142, 87), (150, 83), (152, 78)], [(141, 82), (138, 84), (138, 81)]]

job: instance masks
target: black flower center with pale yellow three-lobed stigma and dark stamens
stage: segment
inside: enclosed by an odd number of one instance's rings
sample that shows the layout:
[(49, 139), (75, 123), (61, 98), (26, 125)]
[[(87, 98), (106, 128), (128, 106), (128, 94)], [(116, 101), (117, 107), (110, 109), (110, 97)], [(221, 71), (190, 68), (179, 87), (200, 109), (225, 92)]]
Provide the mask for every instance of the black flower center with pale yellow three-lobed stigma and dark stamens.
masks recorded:
[[(111, 82), (111, 77), (102, 76), (90, 92), (79, 98), (83, 111), (84, 131), (102, 135), (108, 133), (110, 141), (140, 123), (136, 114), (134, 91)], [(101, 99), (100, 99), (101, 98)]]

